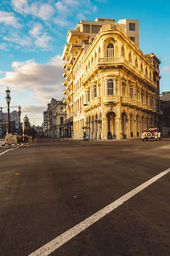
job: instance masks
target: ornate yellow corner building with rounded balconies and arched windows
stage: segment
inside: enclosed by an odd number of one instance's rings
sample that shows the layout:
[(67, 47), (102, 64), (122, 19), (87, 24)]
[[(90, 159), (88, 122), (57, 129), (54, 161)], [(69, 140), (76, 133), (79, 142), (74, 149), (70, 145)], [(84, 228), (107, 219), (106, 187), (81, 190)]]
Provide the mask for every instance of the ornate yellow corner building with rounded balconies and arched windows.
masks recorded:
[(159, 64), (139, 49), (139, 20), (82, 20), (63, 52), (71, 137), (138, 138), (158, 125)]

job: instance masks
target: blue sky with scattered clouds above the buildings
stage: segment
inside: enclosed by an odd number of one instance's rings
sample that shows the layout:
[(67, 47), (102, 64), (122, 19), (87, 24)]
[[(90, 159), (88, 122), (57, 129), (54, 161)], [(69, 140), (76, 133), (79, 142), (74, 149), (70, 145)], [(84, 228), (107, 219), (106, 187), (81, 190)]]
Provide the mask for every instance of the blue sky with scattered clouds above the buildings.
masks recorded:
[[(21, 105), (31, 124), (42, 124), (52, 97), (62, 99), (65, 38), (80, 20), (139, 20), (139, 46), (161, 60), (161, 91), (170, 90), (170, 3), (157, 0), (1, 0), (0, 107)], [(13, 108), (14, 109), (14, 108)], [(4, 108), (3, 111), (6, 111)]]

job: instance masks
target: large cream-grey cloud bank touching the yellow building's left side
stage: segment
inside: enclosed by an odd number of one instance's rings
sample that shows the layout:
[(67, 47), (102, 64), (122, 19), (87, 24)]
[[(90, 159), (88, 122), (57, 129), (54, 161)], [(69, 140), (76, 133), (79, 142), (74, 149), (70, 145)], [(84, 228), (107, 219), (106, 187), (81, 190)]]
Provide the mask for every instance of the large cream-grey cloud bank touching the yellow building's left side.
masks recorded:
[(51, 97), (63, 97), (62, 65), (60, 55), (54, 56), (47, 64), (38, 64), (34, 60), (14, 61), (13, 71), (6, 72), (5, 77), (0, 79), (0, 84), (10, 84), (15, 92), (31, 92), (35, 99), (47, 104)]

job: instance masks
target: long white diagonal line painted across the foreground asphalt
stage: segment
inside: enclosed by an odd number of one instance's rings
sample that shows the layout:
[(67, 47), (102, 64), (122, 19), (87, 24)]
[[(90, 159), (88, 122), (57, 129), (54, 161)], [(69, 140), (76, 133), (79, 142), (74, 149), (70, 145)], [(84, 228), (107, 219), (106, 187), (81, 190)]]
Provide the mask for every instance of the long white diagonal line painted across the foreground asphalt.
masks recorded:
[(139, 185), (137, 188), (131, 190), (127, 194), (122, 195), (122, 197), (120, 197), (116, 201), (113, 201), (107, 207), (101, 209), (99, 212), (95, 212), (89, 218), (86, 218), (85, 220), (83, 220), (81, 223), (77, 224), (76, 226), (74, 226), (70, 230), (65, 231), (65, 233), (63, 233), (60, 236), (57, 236), (56, 238), (54, 238), (54, 240), (49, 241), (47, 244), (40, 247), (39, 249), (37, 249), (37, 251), (35, 251), (34, 253), (29, 254), (28, 256), (39, 256), (39, 255), (47, 256), (50, 253), (53, 253), (57, 248), (64, 245), (65, 242), (70, 241), (73, 237), (80, 234), (83, 230), (88, 229), (89, 226), (91, 226), (92, 224), (97, 222), (100, 218), (105, 217), (105, 215), (112, 212), (117, 207), (120, 207), (125, 201), (129, 200), (134, 195), (137, 195), (140, 191), (142, 191), (143, 189), (150, 186), (151, 183), (155, 183), (156, 180), (165, 176), (168, 172), (170, 172), (170, 168), (168, 168), (164, 172), (161, 172), (160, 174), (156, 175), (155, 177), (150, 178), (147, 182)]

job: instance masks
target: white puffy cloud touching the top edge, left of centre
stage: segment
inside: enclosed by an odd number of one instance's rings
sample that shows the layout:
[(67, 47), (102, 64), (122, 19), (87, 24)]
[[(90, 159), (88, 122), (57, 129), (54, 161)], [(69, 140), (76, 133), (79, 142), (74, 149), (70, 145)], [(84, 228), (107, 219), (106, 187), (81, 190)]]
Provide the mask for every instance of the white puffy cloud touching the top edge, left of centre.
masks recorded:
[(31, 3), (27, 0), (12, 0), (14, 10), (22, 15), (34, 15), (48, 20), (54, 15), (54, 8), (49, 3)]

